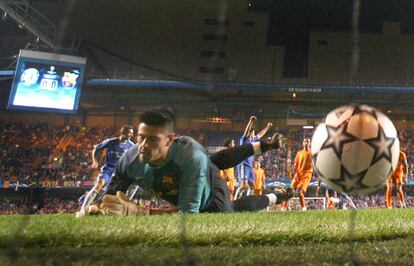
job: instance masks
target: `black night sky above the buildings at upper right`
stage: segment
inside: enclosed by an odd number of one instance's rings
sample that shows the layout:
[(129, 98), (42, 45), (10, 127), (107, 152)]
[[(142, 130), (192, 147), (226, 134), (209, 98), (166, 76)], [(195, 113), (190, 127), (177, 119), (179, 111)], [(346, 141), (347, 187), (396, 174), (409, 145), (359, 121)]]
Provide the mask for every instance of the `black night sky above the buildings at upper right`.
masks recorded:
[[(350, 32), (352, 0), (257, 0), (256, 11), (269, 12), (269, 45), (283, 45), (286, 77), (306, 73), (310, 31)], [(381, 33), (384, 21), (401, 22), (402, 34), (414, 34), (414, 0), (361, 0), (361, 33)]]

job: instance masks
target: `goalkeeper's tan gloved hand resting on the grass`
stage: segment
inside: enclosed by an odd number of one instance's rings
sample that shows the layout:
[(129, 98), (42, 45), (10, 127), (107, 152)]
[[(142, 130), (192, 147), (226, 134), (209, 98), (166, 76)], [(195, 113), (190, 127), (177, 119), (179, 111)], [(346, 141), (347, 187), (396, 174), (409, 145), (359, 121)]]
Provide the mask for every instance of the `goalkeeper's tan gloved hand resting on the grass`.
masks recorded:
[(141, 207), (130, 201), (125, 193), (118, 191), (116, 196), (105, 195), (102, 198), (101, 209), (108, 215), (128, 216), (128, 215), (148, 215), (150, 209)]

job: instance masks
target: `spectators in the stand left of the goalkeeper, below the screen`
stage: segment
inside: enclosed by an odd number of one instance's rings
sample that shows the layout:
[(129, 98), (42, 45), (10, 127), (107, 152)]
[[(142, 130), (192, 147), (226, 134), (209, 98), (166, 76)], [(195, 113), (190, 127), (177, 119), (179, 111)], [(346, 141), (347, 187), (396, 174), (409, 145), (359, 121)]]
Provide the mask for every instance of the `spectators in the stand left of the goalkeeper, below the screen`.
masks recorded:
[(0, 180), (30, 184), (90, 179), (93, 145), (117, 130), (2, 121)]

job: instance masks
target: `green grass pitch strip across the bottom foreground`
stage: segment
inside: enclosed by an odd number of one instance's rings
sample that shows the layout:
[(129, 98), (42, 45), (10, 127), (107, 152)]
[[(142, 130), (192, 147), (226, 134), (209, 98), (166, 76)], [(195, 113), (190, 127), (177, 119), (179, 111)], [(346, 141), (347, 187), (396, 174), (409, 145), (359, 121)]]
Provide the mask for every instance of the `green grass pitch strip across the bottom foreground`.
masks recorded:
[(0, 265), (410, 265), (414, 209), (4, 215), (0, 247)]

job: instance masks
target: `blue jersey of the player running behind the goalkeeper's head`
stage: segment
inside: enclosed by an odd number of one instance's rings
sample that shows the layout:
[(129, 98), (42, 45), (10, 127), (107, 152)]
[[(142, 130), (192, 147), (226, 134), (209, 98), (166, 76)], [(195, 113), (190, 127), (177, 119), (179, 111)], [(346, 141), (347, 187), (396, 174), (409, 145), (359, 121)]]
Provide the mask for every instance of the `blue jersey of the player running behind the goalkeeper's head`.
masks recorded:
[(119, 158), (134, 146), (134, 143), (130, 140), (121, 142), (119, 138), (110, 138), (102, 141), (95, 146), (96, 151), (102, 151), (106, 149), (106, 159), (105, 164), (102, 166), (101, 171), (112, 171), (115, 169), (116, 164), (118, 163)]

